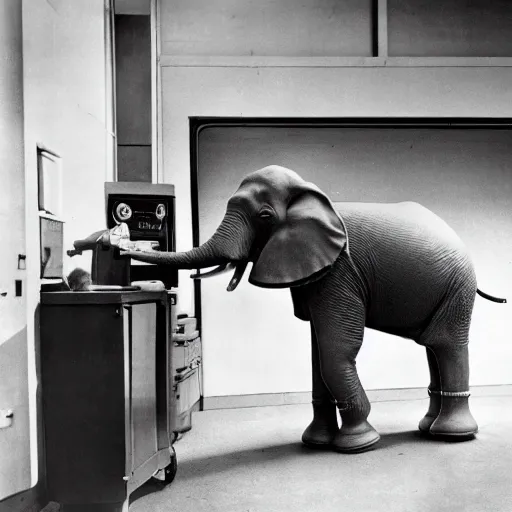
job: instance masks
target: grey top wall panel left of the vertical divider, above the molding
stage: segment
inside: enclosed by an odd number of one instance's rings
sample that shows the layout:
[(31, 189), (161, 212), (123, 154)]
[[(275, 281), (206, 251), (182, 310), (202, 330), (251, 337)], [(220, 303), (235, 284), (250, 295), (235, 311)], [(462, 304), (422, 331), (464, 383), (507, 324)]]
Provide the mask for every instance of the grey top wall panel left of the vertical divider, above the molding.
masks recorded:
[(165, 55), (372, 55), (370, 0), (167, 0)]

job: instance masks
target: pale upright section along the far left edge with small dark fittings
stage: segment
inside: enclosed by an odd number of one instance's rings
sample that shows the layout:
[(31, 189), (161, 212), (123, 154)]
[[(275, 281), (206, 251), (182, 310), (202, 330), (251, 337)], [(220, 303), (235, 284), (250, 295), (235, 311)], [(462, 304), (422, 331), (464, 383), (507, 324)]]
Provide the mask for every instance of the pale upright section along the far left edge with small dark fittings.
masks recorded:
[[(11, 409), (0, 429), (0, 500), (30, 487), (29, 399), (23, 173), (23, 60), (21, 4), (0, 5), (0, 410)], [(15, 280), (22, 295), (15, 296)], [(4, 414), (1, 414), (2, 423)]]

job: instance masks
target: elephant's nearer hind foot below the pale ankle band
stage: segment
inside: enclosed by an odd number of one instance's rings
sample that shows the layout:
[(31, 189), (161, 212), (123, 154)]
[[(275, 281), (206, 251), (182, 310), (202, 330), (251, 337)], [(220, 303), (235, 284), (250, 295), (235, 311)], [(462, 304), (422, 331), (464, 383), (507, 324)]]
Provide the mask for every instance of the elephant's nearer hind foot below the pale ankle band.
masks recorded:
[(429, 434), (446, 438), (472, 439), (478, 425), (469, 410), (469, 392), (441, 392), (441, 410)]

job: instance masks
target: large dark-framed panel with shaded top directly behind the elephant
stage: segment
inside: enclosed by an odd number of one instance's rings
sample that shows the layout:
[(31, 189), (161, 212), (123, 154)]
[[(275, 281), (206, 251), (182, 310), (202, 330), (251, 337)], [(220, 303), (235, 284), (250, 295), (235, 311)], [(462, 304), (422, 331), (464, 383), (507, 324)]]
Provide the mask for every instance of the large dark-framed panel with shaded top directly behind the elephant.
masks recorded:
[[(215, 231), (243, 177), (279, 164), (316, 183), (332, 201), (422, 203), (468, 245), (482, 289), (497, 295), (512, 289), (512, 242), (504, 236), (512, 230), (512, 131), (217, 127), (200, 132), (198, 161), (201, 242)], [(205, 373), (216, 376), (215, 385), (208, 380), (208, 393), (307, 389), (307, 368), (286, 370), (309, 336), (292, 316), (289, 292), (257, 289), (246, 276), (228, 294), (228, 280), (211, 279), (202, 287)], [(506, 378), (504, 359), (490, 354), (510, 352), (511, 307), (477, 303), (473, 385)], [(375, 331), (366, 336), (358, 359), (365, 386), (428, 384), (424, 349)], [(210, 343), (215, 350), (209, 350)]]

